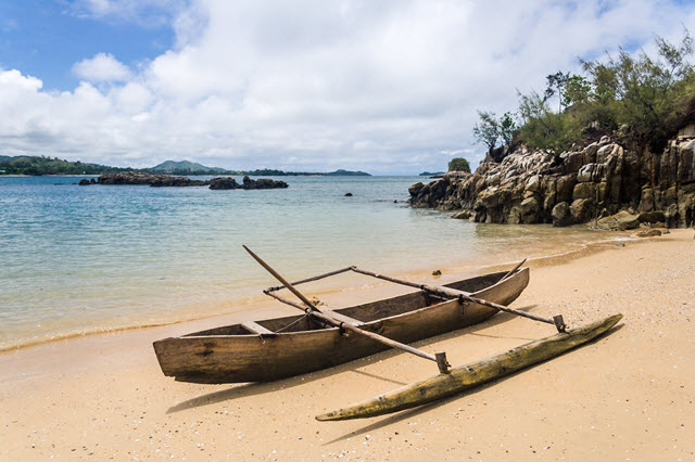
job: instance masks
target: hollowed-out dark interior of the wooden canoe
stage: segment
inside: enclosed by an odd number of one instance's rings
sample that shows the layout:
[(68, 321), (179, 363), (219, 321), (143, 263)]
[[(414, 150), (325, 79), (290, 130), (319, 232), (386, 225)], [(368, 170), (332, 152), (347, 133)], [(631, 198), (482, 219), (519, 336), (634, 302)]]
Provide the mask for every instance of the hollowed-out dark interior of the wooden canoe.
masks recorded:
[[(456, 288), (465, 292), (478, 292), (497, 283), (506, 272), (496, 272), (483, 274), (477, 278), (456, 281), (444, 284), (447, 287)], [(337, 312), (349, 316), (362, 322), (376, 321), (392, 316), (403, 315), (415, 311), (431, 305), (444, 301), (443, 298), (434, 297), (424, 291), (405, 294), (383, 300), (370, 301), (363, 305), (337, 309)], [(274, 318), (255, 321), (269, 331), (282, 333), (305, 332), (328, 329), (320, 322), (316, 322), (304, 315), (288, 316), (285, 318)], [(224, 325), (220, 328), (208, 329), (206, 331), (193, 332), (184, 335), (184, 337), (199, 337), (208, 335), (257, 335), (248, 331), (241, 324)]]

